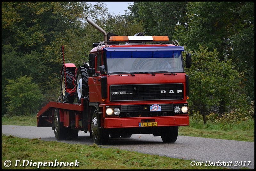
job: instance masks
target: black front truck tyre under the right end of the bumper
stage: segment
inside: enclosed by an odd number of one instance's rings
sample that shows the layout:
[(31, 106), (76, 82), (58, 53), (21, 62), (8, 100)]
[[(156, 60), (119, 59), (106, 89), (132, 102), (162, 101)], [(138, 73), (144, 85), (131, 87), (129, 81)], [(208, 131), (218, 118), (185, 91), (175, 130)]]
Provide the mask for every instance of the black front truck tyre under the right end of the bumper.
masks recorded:
[(161, 130), (161, 138), (164, 143), (174, 143), (177, 140), (179, 126), (165, 127)]

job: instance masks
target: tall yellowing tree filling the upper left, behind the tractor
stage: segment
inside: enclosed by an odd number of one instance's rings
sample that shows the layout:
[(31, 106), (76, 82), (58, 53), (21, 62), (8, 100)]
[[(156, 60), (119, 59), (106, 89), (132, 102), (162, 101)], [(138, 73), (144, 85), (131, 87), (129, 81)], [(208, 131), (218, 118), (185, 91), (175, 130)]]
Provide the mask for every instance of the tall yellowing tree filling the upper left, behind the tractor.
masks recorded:
[(2, 2), (1, 7), (2, 114), (5, 114), (6, 78), (31, 74), (44, 99), (54, 96), (49, 92), (60, 89), (56, 84), (62, 65), (60, 47), (68, 46), (68, 59), (78, 61), (83, 57), (84, 14), (95, 16), (102, 8), (87, 2)]

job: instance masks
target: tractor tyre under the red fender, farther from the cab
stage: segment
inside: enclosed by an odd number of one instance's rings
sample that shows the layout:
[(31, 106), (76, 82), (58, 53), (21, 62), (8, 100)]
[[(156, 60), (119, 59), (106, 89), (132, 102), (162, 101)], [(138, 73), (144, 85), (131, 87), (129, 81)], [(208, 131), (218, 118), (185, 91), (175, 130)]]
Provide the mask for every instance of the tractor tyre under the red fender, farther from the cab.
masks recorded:
[[(66, 86), (65, 86), (65, 74), (64, 72), (62, 73), (62, 77), (61, 77), (61, 99), (64, 98), (64, 96), (66, 95), (65, 92), (67, 92), (66, 90)], [(75, 83), (75, 70), (66, 69), (66, 83), (67, 83), (67, 89), (73, 89), (75, 87), (75, 85), (73, 84), (73, 81)], [(64, 86), (64, 87), (63, 87)], [(66, 99), (63, 99), (66, 100)], [(73, 103), (75, 100), (75, 96), (72, 94), (71, 96), (68, 95), (67, 96), (67, 100), (65, 103)]]

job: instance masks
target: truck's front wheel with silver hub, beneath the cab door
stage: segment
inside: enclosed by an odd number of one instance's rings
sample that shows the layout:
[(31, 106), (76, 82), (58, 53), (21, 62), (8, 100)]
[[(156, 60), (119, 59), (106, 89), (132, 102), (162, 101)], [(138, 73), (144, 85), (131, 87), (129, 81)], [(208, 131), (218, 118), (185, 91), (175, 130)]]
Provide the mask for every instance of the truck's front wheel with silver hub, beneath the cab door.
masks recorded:
[(93, 111), (91, 121), (91, 132), (94, 143), (98, 145), (106, 144), (108, 142), (109, 134), (106, 129), (100, 128), (100, 119), (97, 109)]

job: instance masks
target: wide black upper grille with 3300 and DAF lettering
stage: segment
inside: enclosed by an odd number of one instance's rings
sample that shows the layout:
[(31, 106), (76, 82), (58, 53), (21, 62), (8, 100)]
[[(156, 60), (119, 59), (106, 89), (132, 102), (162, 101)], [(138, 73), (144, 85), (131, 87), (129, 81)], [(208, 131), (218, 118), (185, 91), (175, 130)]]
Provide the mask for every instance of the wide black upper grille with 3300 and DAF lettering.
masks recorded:
[(181, 100), (183, 84), (110, 85), (110, 101)]

